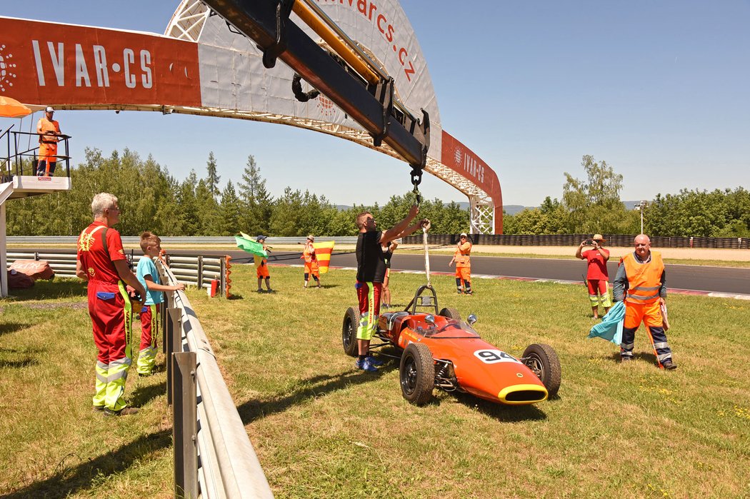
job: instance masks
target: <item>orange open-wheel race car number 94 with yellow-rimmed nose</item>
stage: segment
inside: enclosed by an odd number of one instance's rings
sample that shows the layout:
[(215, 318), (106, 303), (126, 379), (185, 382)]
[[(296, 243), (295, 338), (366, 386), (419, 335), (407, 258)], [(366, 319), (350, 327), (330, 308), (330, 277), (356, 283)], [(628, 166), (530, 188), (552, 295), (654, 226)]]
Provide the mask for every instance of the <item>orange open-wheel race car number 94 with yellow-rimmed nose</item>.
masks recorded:
[[(472, 327), (475, 315), (464, 322), (456, 309), (437, 310), (434, 288), (422, 285), (406, 310), (380, 315), (376, 336), (383, 342), (371, 344), (401, 351), (401, 393), (409, 402), (425, 404), (435, 387), (508, 405), (535, 404), (556, 395), (560, 363), (552, 347), (529, 345), (516, 358), (481, 339)], [(350, 307), (341, 336), (344, 351), (352, 356), (357, 354), (358, 324), (359, 310)]]

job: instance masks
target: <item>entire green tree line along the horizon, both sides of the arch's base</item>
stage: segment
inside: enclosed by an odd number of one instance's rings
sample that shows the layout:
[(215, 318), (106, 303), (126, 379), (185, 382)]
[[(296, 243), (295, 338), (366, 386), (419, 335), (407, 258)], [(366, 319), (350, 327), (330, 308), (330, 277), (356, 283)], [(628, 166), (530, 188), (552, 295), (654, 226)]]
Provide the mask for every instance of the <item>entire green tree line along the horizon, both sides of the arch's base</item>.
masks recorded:
[[(505, 214), (505, 234), (637, 234), (640, 214), (628, 210), (619, 199), (622, 175), (606, 162), (591, 156), (581, 161), (586, 179), (565, 173), (562, 200), (547, 197), (539, 208), (515, 215)], [(86, 149), (86, 161), (71, 169), (71, 192), (35, 196), (7, 205), (9, 235), (77, 235), (91, 220), (95, 193), (118, 196), (124, 214), (118, 229), (123, 235), (151, 230), (160, 235), (275, 236), (356, 235), (356, 214), (372, 211), (380, 227), (391, 227), (409, 211), (411, 193), (393, 196), (386, 205), (358, 205), (341, 210), (324, 196), (292, 190), (274, 199), (266, 188), (253, 156), (238, 184), (220, 176), (214, 154), (208, 155), (205, 178), (191, 171), (176, 180), (151, 157), (142, 160), (125, 149), (105, 157), (98, 149)], [(469, 214), (455, 202), (439, 199), (422, 202), (420, 216), (428, 217), (437, 234), (456, 234), (469, 229)], [(649, 235), (750, 237), (750, 193), (735, 190), (682, 190), (658, 195), (643, 212)]]

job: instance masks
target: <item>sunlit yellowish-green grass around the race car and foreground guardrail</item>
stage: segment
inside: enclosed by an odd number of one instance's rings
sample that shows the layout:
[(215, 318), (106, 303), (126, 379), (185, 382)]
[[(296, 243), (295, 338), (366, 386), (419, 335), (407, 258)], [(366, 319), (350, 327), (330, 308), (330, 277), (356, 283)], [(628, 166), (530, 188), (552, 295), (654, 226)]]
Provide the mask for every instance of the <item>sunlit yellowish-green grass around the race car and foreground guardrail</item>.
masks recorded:
[[(562, 387), (534, 406), (436, 391), (417, 408), (397, 363), (365, 374), (341, 349), (353, 272), (303, 290), (302, 268), (272, 267), (273, 294), (254, 291), (254, 267), (232, 278), (236, 300), (189, 297), (278, 498), (750, 497), (747, 301), (670, 297), (679, 369), (663, 372), (642, 330), (628, 365), (586, 339), (583, 286), (475, 279), (466, 297), (438, 276), (440, 306), (476, 313), (502, 350), (553, 345)], [(396, 274), (394, 302), (424, 279)], [(0, 301), (0, 495), (170, 497), (166, 376), (131, 372), (138, 415), (92, 413), (83, 291), (59, 279)]]

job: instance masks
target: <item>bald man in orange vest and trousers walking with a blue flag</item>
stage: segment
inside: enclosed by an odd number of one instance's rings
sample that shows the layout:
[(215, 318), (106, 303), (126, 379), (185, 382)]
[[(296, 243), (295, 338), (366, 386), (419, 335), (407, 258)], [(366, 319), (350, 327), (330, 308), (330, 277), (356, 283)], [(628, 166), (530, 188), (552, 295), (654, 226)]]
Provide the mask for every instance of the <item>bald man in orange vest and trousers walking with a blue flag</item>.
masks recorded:
[[(620, 360), (633, 360), (635, 331), (640, 323), (646, 325), (656, 355), (656, 363), (662, 369), (677, 369), (672, 360), (672, 349), (664, 332), (666, 310), (667, 276), (661, 253), (651, 251), (651, 240), (645, 234), (635, 236), (635, 251), (622, 257), (622, 263), (614, 278), (614, 300), (625, 300), (625, 321), (622, 323)], [(627, 293), (627, 294), (625, 294)]]

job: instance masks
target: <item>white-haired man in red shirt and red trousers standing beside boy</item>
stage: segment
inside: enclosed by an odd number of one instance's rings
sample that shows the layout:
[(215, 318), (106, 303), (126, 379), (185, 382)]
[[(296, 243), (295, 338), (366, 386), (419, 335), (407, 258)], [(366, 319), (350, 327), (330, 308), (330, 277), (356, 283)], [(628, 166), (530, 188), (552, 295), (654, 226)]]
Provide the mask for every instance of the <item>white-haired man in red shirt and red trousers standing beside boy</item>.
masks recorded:
[[(99, 350), (94, 409), (104, 411), (107, 416), (138, 412), (126, 407), (123, 394), (133, 358), (130, 344), (133, 310), (142, 309), (145, 289), (127, 265), (120, 233), (112, 229), (120, 221), (120, 213), (117, 198), (112, 194), (94, 196), (94, 222), (78, 238), (76, 261), (76, 275), (89, 282), (89, 315)], [(125, 285), (135, 289), (138, 301), (130, 300)]]

